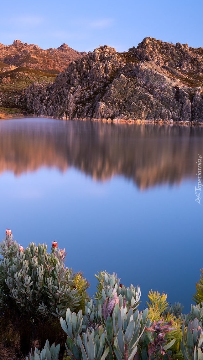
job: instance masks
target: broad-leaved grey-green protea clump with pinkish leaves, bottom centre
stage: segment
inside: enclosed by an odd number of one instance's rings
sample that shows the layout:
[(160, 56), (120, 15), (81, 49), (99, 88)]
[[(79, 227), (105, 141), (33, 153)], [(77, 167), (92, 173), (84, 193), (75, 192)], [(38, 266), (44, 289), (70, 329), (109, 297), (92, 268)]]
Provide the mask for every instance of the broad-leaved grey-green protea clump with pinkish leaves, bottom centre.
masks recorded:
[(67, 353), (76, 360), (133, 360), (145, 329), (142, 313), (136, 310), (140, 289), (119, 285), (115, 273), (104, 271), (97, 279), (98, 292), (94, 301), (85, 302), (85, 313), (67, 309), (66, 320), (61, 318)]

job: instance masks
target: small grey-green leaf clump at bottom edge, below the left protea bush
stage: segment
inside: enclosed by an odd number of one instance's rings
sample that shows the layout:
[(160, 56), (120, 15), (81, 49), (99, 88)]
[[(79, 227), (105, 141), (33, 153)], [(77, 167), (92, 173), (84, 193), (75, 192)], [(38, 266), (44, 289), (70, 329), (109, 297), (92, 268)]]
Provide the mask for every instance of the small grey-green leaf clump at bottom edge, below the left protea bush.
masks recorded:
[(49, 341), (47, 340), (41, 351), (35, 348), (34, 353), (32, 353), (31, 350), (30, 355), (29, 357), (26, 357), (26, 360), (58, 360), (59, 350), (60, 344), (56, 347), (52, 344), (52, 346), (49, 347)]

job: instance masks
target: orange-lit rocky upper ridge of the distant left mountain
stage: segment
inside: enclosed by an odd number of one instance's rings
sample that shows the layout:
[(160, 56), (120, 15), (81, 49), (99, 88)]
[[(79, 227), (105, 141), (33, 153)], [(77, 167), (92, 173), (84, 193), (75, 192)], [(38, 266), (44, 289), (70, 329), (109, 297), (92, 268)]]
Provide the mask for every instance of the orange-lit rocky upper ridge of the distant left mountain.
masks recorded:
[(24, 43), (20, 40), (14, 40), (13, 44), (8, 46), (0, 44), (0, 62), (43, 71), (64, 71), (72, 60), (77, 60), (85, 54), (87, 53), (79, 53), (66, 44), (57, 49), (47, 50), (43, 50), (35, 44), (28, 45), (27, 42)]

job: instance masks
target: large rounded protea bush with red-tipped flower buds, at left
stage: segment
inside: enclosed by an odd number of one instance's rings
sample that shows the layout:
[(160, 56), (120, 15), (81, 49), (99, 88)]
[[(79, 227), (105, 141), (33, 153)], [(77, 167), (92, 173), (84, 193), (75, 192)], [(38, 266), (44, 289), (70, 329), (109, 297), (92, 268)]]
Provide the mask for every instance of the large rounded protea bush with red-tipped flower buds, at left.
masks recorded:
[(23, 354), (30, 350), (31, 334), (41, 345), (55, 330), (54, 341), (59, 341), (63, 332), (58, 319), (67, 307), (75, 312), (84, 307), (87, 280), (65, 266), (65, 249), (56, 241), (51, 252), (46, 244), (33, 242), (23, 249), (6, 229), (0, 254), (0, 314), (16, 319)]

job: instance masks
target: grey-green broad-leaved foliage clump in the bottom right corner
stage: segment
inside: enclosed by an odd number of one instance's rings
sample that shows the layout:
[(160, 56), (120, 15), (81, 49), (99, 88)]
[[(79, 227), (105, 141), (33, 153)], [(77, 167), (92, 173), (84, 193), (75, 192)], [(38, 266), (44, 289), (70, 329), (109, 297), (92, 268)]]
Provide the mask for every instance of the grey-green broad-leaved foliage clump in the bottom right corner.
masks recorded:
[(182, 342), (181, 350), (185, 360), (202, 360), (202, 344), (203, 344), (203, 331), (199, 326), (199, 320), (196, 318), (189, 321), (185, 333), (185, 322), (182, 326)]

